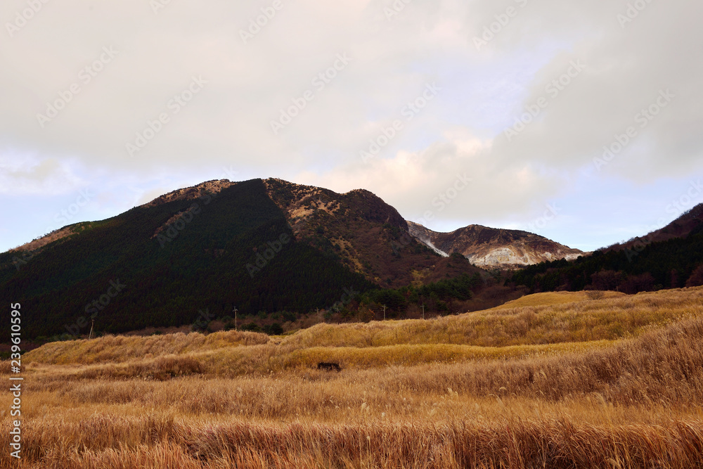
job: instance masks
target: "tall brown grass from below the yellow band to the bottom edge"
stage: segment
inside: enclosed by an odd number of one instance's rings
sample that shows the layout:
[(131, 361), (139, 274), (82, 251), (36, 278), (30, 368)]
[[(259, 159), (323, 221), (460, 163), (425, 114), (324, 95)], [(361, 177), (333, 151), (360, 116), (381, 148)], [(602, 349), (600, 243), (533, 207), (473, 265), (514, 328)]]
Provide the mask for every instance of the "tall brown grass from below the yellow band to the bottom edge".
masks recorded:
[(25, 467), (695, 468), (702, 338), (697, 318), (517, 361), (165, 382), (38, 373)]

